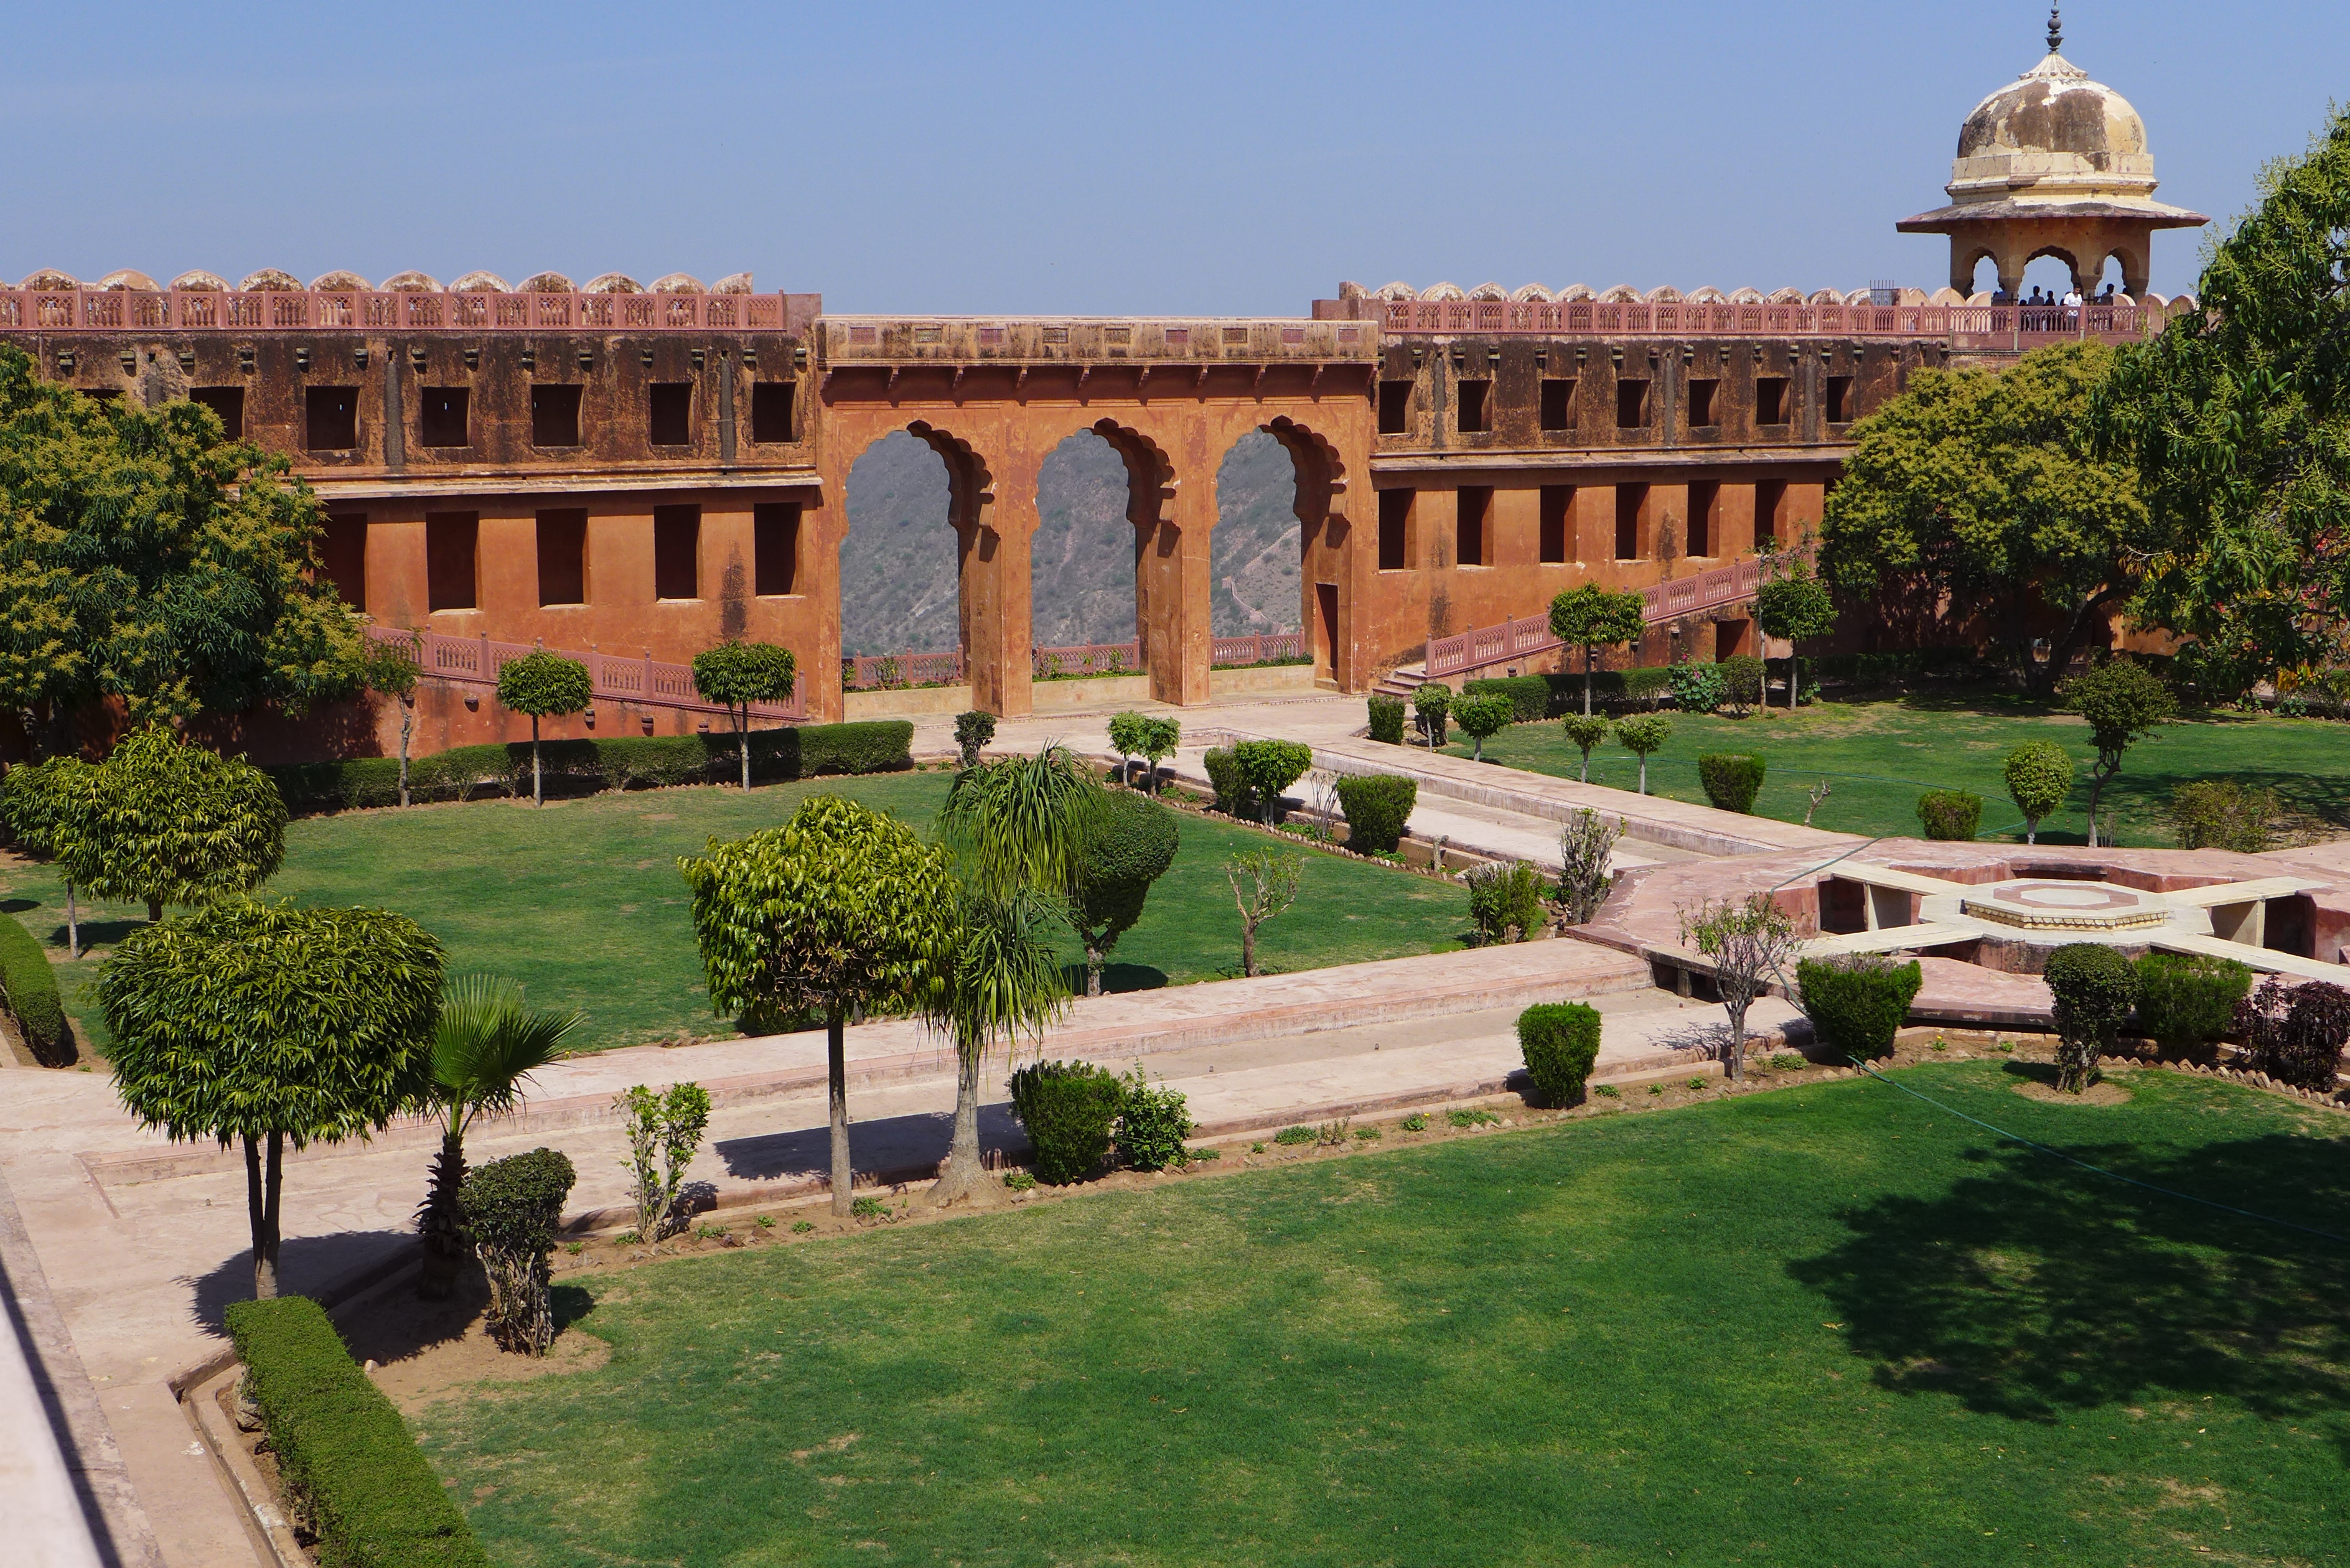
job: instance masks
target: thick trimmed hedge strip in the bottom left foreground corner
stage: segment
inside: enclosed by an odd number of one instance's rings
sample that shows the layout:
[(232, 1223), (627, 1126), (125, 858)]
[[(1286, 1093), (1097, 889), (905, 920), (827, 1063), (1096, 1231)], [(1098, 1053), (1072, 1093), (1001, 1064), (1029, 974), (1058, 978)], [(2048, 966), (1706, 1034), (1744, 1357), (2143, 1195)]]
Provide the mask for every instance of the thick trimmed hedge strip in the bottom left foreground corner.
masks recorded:
[(409, 1425), (343, 1347), (317, 1302), (228, 1307), (228, 1335), (277, 1453), (289, 1502), (327, 1568), (489, 1568)]

